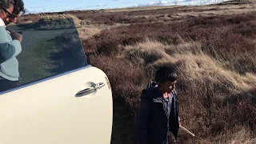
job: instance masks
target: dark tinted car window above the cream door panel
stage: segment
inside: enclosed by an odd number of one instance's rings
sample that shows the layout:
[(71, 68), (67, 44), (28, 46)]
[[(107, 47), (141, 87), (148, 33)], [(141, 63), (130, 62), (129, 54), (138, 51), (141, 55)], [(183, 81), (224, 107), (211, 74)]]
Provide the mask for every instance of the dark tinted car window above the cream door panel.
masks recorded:
[[(12, 46), (8, 49), (10, 58), (5, 57), (6, 60), (1, 61), (0, 92), (87, 65), (73, 19), (7, 28), (10, 33), (22, 31), (22, 42), (20, 48), (18, 41), (14, 42), (8, 36), (9, 42), (0, 43), (1, 49), (8, 43)], [(3, 49), (0, 52), (3, 53)]]

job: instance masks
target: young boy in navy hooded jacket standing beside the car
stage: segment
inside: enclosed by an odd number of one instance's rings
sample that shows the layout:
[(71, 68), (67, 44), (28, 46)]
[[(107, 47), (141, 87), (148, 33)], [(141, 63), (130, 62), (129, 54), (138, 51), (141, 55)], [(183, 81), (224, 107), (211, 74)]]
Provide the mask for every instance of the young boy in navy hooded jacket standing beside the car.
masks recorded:
[(162, 66), (155, 74), (155, 82), (150, 82), (142, 90), (137, 118), (138, 143), (168, 144), (168, 131), (177, 140), (179, 118), (176, 80), (174, 69)]

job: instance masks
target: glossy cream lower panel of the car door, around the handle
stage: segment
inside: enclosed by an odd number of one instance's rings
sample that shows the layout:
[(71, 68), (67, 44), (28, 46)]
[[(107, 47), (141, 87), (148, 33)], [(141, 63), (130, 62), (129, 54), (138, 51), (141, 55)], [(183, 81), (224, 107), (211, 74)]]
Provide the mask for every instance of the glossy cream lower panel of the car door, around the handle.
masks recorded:
[[(80, 90), (103, 82), (92, 94)], [(106, 74), (95, 67), (0, 95), (0, 143), (108, 143), (112, 97)]]

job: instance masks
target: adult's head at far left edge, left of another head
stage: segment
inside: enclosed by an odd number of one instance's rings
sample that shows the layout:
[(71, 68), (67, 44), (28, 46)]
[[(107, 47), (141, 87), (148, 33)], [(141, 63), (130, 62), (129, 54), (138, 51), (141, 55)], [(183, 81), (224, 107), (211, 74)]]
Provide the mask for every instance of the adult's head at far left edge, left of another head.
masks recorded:
[(14, 1), (13, 0), (1, 0), (0, 1), (0, 18), (5, 21), (9, 21), (14, 11)]

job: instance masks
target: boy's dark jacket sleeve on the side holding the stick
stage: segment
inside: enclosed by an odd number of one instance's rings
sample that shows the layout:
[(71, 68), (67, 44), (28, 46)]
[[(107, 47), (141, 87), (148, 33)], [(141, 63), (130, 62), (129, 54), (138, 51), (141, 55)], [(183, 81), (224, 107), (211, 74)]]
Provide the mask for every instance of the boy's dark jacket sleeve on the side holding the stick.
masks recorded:
[(179, 116), (178, 116), (178, 96), (176, 91), (174, 91), (174, 98), (172, 98), (171, 111), (169, 117), (169, 130), (172, 134), (174, 134), (174, 138), (178, 137), (178, 129), (179, 129)]

